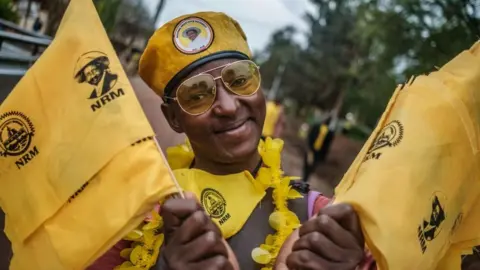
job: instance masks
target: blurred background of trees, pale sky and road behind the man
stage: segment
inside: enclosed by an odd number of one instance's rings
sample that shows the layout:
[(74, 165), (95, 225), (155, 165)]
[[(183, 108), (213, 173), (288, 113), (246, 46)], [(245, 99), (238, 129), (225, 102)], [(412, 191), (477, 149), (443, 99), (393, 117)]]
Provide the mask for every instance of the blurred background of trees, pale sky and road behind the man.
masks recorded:
[[(0, 0), (0, 102), (48, 47), (68, 0)], [(333, 188), (397, 84), (480, 37), (480, 0), (93, 0), (163, 148), (183, 141), (137, 77), (149, 36), (187, 13), (222, 11), (244, 28), (271, 100), (285, 171)], [(273, 103), (273, 101), (277, 101)], [(280, 115), (280, 116), (279, 116)], [(1, 221), (3, 223), (3, 220)], [(5, 242), (5, 239), (0, 242)], [(0, 245), (0, 269), (8, 250)], [(3, 256), (3, 254), (7, 254)]]

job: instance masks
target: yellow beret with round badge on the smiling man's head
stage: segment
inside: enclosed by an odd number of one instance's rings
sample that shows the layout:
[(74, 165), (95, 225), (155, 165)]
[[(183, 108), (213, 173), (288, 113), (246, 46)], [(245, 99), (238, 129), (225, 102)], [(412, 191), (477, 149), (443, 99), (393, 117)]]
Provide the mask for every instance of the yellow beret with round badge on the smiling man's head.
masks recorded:
[(247, 37), (224, 13), (199, 12), (173, 19), (150, 38), (140, 59), (140, 77), (168, 96), (195, 68), (217, 59), (250, 59)]

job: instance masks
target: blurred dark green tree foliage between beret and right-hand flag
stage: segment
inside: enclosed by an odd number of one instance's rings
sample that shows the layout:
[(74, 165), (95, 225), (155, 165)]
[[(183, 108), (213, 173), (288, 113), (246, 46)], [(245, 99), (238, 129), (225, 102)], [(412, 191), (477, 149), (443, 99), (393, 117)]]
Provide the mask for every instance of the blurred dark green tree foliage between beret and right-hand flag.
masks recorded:
[(396, 84), (442, 66), (480, 37), (480, 0), (311, 2), (306, 46), (285, 28), (263, 52), (265, 85), (288, 61), (284, 95), (327, 110), (340, 99), (343, 113), (372, 127)]

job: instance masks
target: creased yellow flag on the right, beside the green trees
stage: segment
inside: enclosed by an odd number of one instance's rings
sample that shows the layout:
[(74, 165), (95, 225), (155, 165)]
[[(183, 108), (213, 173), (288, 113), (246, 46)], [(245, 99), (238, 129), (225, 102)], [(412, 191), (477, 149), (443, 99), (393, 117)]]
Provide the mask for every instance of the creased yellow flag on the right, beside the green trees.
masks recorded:
[(480, 242), (479, 48), (398, 88), (336, 189), (382, 270), (459, 269)]

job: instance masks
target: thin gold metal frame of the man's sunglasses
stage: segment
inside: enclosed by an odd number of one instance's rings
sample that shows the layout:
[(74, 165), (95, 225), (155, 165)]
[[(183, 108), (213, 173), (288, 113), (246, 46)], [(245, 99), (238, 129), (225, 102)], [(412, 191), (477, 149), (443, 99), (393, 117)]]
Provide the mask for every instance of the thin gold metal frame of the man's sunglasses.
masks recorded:
[[(222, 77), (222, 74), (223, 74), (223, 71), (225, 70), (225, 68), (227, 68), (227, 67), (229, 67), (229, 66), (231, 66), (231, 65), (234, 65), (234, 64), (236, 64), (236, 63), (240, 63), (240, 62), (249, 62), (249, 63), (253, 64), (253, 65), (257, 68), (257, 70), (258, 70), (258, 74), (259, 74), (259, 76), (258, 76), (258, 77), (259, 77), (258, 87), (257, 87), (257, 89), (255, 89), (255, 91), (253, 91), (253, 92), (252, 92), (251, 94), (249, 94), (249, 95), (239, 95), (238, 93), (236, 93), (235, 91), (233, 91), (232, 89), (230, 89), (230, 87), (228, 86), (228, 84), (225, 83), (225, 81), (223, 80), (223, 77)], [(212, 72), (212, 71), (218, 70), (218, 69), (222, 69), (222, 70), (220, 71), (220, 76), (218, 76), (218, 77), (213, 77), (213, 75), (209, 73), (209, 72)], [(187, 114), (189, 114), (189, 115), (194, 115), (194, 116), (196, 116), (196, 115), (202, 115), (202, 114), (208, 112), (208, 111), (212, 108), (213, 104), (215, 104), (215, 100), (217, 99), (217, 84), (216, 84), (215, 82), (216, 82), (217, 80), (219, 80), (219, 79), (222, 80), (223, 85), (225, 86), (225, 88), (226, 88), (230, 93), (232, 93), (232, 94), (234, 94), (234, 95), (236, 95), (236, 96), (240, 96), (240, 97), (250, 97), (250, 96), (255, 95), (255, 94), (258, 92), (258, 90), (260, 89), (260, 86), (262, 85), (262, 75), (260, 74), (260, 67), (259, 67), (257, 64), (255, 64), (255, 62), (253, 62), (253, 61), (251, 61), (251, 60), (239, 60), (239, 61), (235, 61), (235, 62), (232, 62), (232, 63), (228, 63), (228, 64), (225, 64), (225, 65), (216, 67), (216, 68), (212, 68), (212, 69), (206, 70), (206, 71), (204, 71), (204, 72), (202, 72), (202, 73), (199, 73), (199, 74), (197, 74), (197, 75), (195, 75), (195, 76), (192, 76), (192, 77), (186, 79), (185, 81), (183, 81), (183, 82), (177, 87), (177, 89), (175, 90), (175, 93), (178, 93), (178, 89), (182, 86), (183, 83), (185, 83), (185, 82), (187, 82), (187, 81), (189, 81), (189, 80), (191, 80), (191, 79), (193, 79), (193, 78), (195, 78), (195, 77), (199, 77), (199, 76), (201, 76), (201, 75), (208, 75), (208, 76), (212, 77), (213, 82), (214, 82), (214, 84), (213, 84), (213, 91), (214, 91), (213, 102), (212, 102), (212, 104), (210, 104), (210, 106), (208, 106), (208, 108), (206, 108), (204, 111), (199, 112), (199, 113), (190, 113), (190, 112), (188, 112), (187, 110), (185, 110), (185, 109), (183, 108), (183, 106), (182, 106), (182, 104), (180, 104), (180, 102), (178, 102), (178, 98), (177, 98), (177, 97), (168, 97), (168, 96), (165, 96), (164, 99), (166, 99), (166, 100), (172, 100), (172, 101), (177, 102), (178, 106), (180, 106), (180, 108), (182, 109), (182, 111), (184, 111), (185, 113), (187, 113)]]

